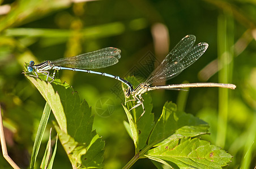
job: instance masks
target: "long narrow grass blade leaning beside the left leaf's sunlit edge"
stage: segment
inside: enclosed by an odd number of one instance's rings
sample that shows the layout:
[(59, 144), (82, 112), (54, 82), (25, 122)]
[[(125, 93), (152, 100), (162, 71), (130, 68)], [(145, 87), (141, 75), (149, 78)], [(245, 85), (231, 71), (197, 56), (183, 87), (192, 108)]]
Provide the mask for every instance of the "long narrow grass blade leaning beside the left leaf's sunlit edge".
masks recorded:
[(42, 117), (41, 117), (41, 120), (40, 120), (40, 123), (39, 123), (39, 128), (38, 128), (37, 133), (36, 133), (35, 143), (33, 145), (33, 150), (32, 150), (32, 154), (31, 154), (30, 168), (35, 167), (36, 157), (37, 157), (37, 154), (38, 154), (39, 149), (40, 149), (42, 136), (44, 136), (44, 132), (45, 132), (46, 124), (48, 123), (49, 116), (50, 116), (50, 106), (46, 102), (45, 107), (44, 107), (44, 112), (42, 113)]

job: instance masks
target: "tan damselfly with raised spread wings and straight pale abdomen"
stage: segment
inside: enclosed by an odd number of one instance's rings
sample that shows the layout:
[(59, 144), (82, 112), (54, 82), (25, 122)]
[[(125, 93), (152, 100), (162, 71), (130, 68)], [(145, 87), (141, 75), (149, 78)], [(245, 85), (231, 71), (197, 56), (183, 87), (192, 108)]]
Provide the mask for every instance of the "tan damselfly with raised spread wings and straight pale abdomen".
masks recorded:
[(163, 82), (175, 77), (176, 75), (181, 73), (182, 70), (186, 69), (188, 66), (197, 61), (199, 57), (202, 56), (207, 50), (208, 44), (206, 42), (201, 42), (198, 43), (198, 45), (194, 46), (194, 43), (195, 36), (186, 35), (184, 38), (181, 39), (180, 42), (178, 42), (178, 44), (172, 49), (172, 51), (169, 52), (163, 62), (159, 66), (157, 66), (155, 70), (153, 70), (153, 72), (144, 83), (140, 83), (139, 86), (136, 87), (135, 90), (131, 90), (131, 92), (130, 88), (126, 90), (126, 97), (130, 97), (130, 95), (132, 95), (134, 98), (133, 100), (128, 101), (137, 101), (137, 104), (131, 109), (142, 105), (143, 113), (140, 115), (140, 117), (142, 117), (142, 115), (145, 113), (142, 94), (147, 91), (156, 89), (177, 90), (177, 88), (183, 87), (224, 87), (231, 89), (236, 88), (236, 85), (234, 84), (224, 83), (185, 83), (169, 84), (167, 86), (150, 86), (150, 84), (152, 84), (153, 82)]

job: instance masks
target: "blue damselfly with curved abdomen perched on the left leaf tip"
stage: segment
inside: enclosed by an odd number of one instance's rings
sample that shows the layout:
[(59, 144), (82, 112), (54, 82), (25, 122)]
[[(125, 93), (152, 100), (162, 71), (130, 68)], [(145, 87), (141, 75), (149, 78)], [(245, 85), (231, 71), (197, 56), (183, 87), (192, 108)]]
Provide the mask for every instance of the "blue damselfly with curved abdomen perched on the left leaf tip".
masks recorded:
[[(118, 59), (121, 57), (121, 50), (114, 47), (106, 47), (101, 50), (88, 52), (86, 54), (81, 54), (73, 57), (65, 57), (62, 59), (57, 59), (54, 61), (46, 60), (43, 63), (35, 65), (34, 61), (30, 61), (28, 65), (28, 72), (24, 73), (35, 73), (36, 75), (29, 74), (33, 77), (39, 77), (38, 73), (42, 73), (46, 75), (46, 81), (48, 78), (51, 78), (54, 81), (54, 76), (56, 74), (56, 70), (73, 70), (78, 72), (86, 72), (104, 75), (106, 77), (117, 79), (122, 83), (125, 83), (129, 90), (127, 93), (131, 93), (133, 91), (133, 86), (127, 82), (125, 79), (122, 79), (116, 75), (111, 75), (108, 73), (95, 72), (92, 70), (86, 69), (97, 69), (97, 68), (105, 68), (107, 66), (114, 65), (118, 63)], [(50, 71), (54, 70), (53, 75), (50, 76)], [(52, 82), (50, 81), (50, 83)]]

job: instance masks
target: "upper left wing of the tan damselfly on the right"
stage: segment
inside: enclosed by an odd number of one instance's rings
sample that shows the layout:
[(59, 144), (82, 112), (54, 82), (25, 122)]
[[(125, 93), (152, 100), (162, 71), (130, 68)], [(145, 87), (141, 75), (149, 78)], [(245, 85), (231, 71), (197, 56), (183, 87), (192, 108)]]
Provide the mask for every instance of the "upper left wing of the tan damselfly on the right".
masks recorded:
[[(189, 53), (195, 43), (194, 35), (186, 35), (180, 42), (169, 52), (163, 62), (150, 74), (147, 78), (147, 84), (151, 84), (153, 81), (161, 82), (165, 78), (172, 77), (176, 72), (181, 69), (184, 70), (181, 60)], [(181, 70), (181, 71), (182, 71)], [(180, 71), (180, 72), (181, 72)]]

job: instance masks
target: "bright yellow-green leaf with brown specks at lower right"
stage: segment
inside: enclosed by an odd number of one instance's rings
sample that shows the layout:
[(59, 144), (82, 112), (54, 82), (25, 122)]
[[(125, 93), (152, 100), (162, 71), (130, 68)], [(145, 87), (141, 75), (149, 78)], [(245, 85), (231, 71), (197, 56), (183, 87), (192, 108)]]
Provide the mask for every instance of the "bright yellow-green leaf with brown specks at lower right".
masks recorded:
[[(148, 158), (159, 158), (174, 163), (179, 168), (221, 168), (231, 161), (232, 155), (220, 147), (199, 138), (183, 137), (170, 140), (145, 154)], [(174, 167), (174, 166), (173, 166)]]

